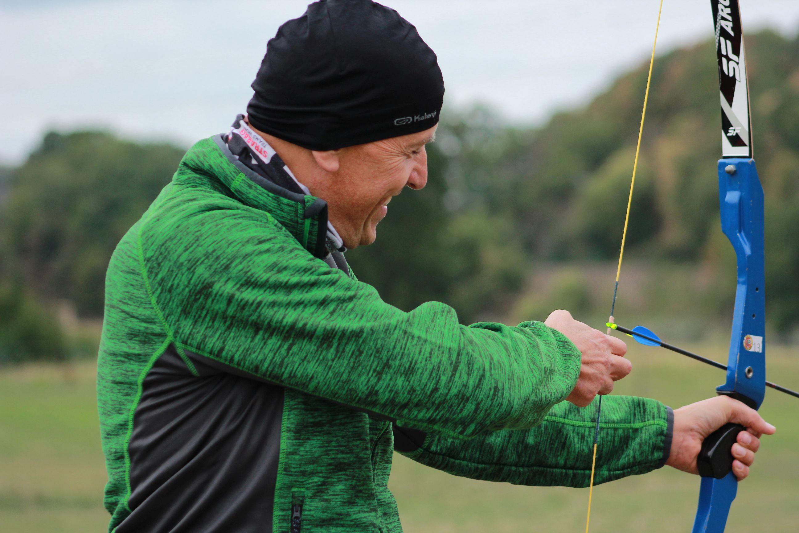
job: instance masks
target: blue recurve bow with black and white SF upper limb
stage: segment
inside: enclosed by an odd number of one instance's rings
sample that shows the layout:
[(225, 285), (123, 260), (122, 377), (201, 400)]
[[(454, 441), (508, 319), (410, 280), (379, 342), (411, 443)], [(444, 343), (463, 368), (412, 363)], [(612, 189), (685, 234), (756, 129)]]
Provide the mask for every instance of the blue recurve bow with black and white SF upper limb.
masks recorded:
[[(718, 192), (721, 230), (737, 261), (727, 380), (718, 394), (760, 408), (765, 396), (765, 257), (763, 188), (752, 153), (749, 89), (737, 0), (711, 0), (721, 93)], [(737, 494), (730, 447), (743, 426), (727, 424), (702, 444), (702, 484), (693, 533), (723, 533)]]

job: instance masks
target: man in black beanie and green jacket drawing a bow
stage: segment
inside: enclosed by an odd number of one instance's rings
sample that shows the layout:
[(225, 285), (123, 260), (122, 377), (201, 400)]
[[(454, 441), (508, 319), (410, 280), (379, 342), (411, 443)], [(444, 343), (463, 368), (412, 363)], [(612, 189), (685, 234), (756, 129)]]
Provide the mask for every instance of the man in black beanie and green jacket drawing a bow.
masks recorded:
[[(517, 327), (402, 312), (343, 252), (427, 181), (443, 80), (414, 26), (327, 0), (280, 27), (248, 115), (181, 161), (109, 265), (98, 404), (110, 530), (401, 531), (394, 450), (478, 479), (586, 486), (595, 410), (625, 345), (554, 312)], [(564, 401), (566, 400), (566, 401)], [(696, 471), (752, 409), (608, 396), (598, 483)]]

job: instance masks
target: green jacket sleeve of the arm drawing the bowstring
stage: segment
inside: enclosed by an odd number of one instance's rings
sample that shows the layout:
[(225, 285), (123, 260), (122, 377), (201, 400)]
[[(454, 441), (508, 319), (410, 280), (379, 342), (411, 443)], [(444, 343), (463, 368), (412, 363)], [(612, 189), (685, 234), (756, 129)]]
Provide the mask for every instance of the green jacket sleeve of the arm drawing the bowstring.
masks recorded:
[(463, 326), (438, 302), (403, 312), (252, 211), (142, 225), (142, 275), (179, 351), (459, 438), (531, 428), (574, 388), (580, 353), (561, 333)]

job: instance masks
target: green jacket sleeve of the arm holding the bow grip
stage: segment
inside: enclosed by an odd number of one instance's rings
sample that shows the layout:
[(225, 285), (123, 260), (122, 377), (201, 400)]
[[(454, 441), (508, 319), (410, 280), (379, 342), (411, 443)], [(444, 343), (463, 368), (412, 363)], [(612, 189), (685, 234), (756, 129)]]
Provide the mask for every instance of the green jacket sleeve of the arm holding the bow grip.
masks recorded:
[[(418, 432), (395, 426), (405, 443), (401, 454), (429, 467), (487, 481), (519, 485), (587, 487), (596, 433), (596, 402), (576, 408), (558, 404), (543, 424), (527, 430), (487, 432), (473, 440), (427, 434), (410, 450)], [(669, 458), (673, 414), (656, 400), (606, 396), (602, 401), (594, 484), (645, 474)], [(418, 444), (418, 443), (417, 443)]]

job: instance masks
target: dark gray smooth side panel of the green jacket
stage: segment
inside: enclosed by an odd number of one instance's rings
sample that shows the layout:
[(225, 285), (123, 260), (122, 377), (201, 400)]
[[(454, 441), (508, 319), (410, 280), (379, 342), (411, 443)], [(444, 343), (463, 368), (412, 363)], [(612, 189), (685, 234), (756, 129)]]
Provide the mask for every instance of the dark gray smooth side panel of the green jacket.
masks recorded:
[(129, 442), (131, 514), (116, 533), (270, 533), (284, 388), (170, 346)]

